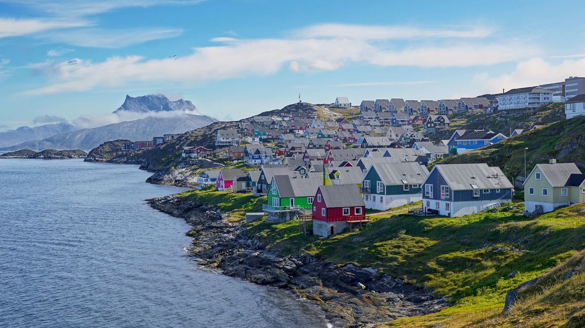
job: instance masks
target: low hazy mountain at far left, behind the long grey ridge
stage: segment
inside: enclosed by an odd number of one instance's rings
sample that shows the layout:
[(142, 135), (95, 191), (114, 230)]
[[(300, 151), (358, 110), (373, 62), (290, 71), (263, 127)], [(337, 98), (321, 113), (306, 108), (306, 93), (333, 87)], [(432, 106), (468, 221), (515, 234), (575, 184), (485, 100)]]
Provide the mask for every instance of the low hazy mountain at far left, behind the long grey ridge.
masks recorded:
[(56, 134), (77, 130), (69, 123), (45, 124), (39, 127), (19, 127), (16, 130), (0, 132), (0, 148), (16, 144), (22, 144), (26, 141), (39, 140), (52, 137)]

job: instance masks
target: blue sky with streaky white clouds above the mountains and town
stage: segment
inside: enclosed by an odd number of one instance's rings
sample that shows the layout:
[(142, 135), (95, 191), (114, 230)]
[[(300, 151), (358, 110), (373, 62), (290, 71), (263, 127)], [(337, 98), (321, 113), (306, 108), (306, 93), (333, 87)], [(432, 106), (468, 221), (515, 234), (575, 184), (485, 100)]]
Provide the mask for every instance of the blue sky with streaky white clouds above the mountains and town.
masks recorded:
[(0, 0), (0, 131), (111, 113), (126, 95), (232, 120), (299, 93), (359, 106), (559, 82), (585, 76), (584, 12), (582, 0)]

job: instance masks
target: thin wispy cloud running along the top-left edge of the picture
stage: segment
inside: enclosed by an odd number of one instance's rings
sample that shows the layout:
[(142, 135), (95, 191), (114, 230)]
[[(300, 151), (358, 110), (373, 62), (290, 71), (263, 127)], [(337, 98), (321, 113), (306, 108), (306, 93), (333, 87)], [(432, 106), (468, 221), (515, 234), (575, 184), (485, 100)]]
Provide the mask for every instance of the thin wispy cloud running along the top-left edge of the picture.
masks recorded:
[(87, 16), (119, 8), (150, 7), (162, 5), (194, 5), (205, 0), (4, 0), (16, 5), (27, 6), (36, 11), (55, 16)]

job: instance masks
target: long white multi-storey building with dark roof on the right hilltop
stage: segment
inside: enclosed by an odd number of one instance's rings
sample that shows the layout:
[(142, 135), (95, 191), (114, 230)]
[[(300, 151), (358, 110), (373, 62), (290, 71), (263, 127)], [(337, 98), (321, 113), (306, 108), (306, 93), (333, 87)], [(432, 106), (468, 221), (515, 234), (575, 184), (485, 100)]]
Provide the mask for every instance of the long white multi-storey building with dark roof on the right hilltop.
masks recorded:
[(512, 89), (497, 96), (499, 110), (537, 109), (552, 102), (553, 92), (540, 86)]

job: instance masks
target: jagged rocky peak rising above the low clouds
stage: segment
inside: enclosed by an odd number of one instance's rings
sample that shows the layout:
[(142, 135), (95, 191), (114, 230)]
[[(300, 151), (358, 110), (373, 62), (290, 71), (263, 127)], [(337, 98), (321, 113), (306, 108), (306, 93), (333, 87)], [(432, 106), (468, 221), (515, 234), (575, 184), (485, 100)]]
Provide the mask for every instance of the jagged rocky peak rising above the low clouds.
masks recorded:
[(168, 100), (164, 95), (146, 95), (140, 97), (130, 97), (126, 95), (126, 100), (122, 106), (118, 107), (114, 114), (123, 111), (133, 111), (135, 113), (150, 113), (160, 111), (187, 111), (191, 114), (199, 114), (195, 105), (189, 100)]

